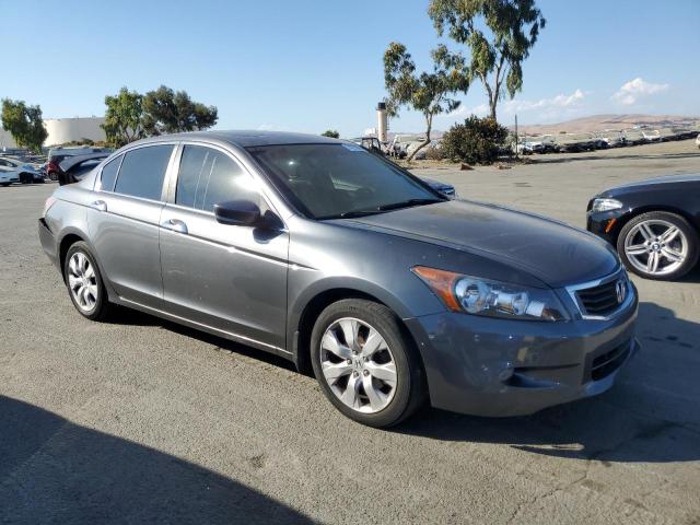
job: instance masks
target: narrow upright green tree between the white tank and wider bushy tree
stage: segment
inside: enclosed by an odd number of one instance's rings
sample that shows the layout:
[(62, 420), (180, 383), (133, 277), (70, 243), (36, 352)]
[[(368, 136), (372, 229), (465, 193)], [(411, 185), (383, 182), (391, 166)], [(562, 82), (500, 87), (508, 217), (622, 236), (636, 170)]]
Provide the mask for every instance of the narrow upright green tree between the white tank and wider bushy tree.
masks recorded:
[(126, 86), (119, 93), (105, 96), (105, 124), (102, 128), (113, 148), (121, 148), (144, 137), (143, 95)]

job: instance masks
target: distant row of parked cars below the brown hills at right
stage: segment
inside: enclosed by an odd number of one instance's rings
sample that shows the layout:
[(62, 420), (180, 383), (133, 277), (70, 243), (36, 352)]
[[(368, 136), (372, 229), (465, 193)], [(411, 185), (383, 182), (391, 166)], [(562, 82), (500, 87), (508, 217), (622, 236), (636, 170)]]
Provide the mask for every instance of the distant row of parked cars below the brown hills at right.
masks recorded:
[[(697, 129), (686, 128), (664, 128), (661, 130), (640, 128), (595, 133), (542, 135), (520, 140), (517, 143), (517, 152), (525, 155), (533, 153), (578, 153), (607, 148), (646, 144), (650, 142), (688, 140), (696, 136), (700, 137)], [(700, 139), (697, 139), (696, 142), (699, 140)]]

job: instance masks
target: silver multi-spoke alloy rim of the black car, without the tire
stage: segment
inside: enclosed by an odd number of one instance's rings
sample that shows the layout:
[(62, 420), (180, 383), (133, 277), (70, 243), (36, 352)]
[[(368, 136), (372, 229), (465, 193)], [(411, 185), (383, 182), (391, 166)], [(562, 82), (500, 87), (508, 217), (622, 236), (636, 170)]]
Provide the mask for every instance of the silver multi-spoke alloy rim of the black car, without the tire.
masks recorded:
[(676, 271), (688, 257), (688, 240), (668, 221), (642, 221), (625, 237), (625, 255), (640, 272), (665, 276)]

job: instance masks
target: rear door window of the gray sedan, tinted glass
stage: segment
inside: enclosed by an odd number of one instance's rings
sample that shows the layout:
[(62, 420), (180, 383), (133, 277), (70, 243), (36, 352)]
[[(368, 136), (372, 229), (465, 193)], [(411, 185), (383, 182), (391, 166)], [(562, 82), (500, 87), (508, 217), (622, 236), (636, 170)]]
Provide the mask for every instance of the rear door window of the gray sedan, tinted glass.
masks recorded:
[(163, 178), (173, 145), (148, 145), (125, 153), (117, 184), (117, 194), (161, 200)]

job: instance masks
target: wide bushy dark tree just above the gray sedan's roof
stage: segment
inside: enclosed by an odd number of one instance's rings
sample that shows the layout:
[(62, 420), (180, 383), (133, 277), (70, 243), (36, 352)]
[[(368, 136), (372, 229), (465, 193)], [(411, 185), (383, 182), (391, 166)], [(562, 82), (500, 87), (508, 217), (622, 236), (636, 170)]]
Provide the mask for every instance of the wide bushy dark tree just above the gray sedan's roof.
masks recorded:
[(149, 135), (207, 129), (218, 118), (214, 106), (192, 102), (185, 91), (174, 92), (161, 85), (143, 97), (143, 128)]

